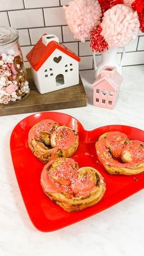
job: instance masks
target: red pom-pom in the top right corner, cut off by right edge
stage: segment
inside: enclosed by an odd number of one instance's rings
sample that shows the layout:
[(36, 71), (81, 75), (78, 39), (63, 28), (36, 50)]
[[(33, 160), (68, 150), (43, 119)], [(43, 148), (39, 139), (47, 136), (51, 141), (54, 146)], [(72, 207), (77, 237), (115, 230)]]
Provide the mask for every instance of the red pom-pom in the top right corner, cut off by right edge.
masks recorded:
[(135, 0), (132, 2), (132, 9), (137, 11), (140, 21), (140, 30), (144, 32), (144, 1)]

